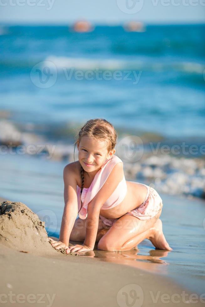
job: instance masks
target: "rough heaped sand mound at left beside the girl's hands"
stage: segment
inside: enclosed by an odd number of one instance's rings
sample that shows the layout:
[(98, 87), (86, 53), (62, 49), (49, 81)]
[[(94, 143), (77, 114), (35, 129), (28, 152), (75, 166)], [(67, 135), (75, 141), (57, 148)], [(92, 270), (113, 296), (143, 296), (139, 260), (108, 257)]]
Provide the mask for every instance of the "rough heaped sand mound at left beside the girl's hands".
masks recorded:
[(0, 204), (0, 243), (19, 252), (67, 255), (64, 248), (56, 250), (50, 245), (45, 222), (21, 202), (6, 200)]

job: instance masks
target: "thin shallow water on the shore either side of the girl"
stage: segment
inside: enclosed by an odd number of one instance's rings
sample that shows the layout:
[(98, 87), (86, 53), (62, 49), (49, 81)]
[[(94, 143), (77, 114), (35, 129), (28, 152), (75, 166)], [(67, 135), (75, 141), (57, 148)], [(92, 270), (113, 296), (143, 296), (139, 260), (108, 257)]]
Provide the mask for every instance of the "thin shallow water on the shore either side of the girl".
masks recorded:
[[(63, 168), (67, 163), (31, 155), (4, 155), (0, 160), (0, 196), (21, 201), (45, 221), (49, 236), (59, 237), (64, 208)], [(197, 294), (204, 293), (205, 202), (160, 194), (163, 231), (173, 251), (155, 250), (144, 240), (138, 250), (94, 250), (81, 257), (131, 265), (173, 278)], [(73, 243), (73, 242), (72, 242)]]

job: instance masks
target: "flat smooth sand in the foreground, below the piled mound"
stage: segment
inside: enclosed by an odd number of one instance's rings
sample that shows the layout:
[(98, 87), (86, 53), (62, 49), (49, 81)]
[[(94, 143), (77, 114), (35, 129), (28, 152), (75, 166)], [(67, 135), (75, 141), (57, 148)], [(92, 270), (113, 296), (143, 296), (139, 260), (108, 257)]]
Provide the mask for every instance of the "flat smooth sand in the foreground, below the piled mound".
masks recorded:
[[(153, 306), (155, 299), (157, 306), (164, 306), (168, 301), (169, 306), (175, 306), (173, 294), (175, 299), (178, 297), (177, 306), (185, 306), (192, 294), (168, 278), (137, 268), (96, 262), (86, 257), (66, 256), (57, 251), (38, 256), (14, 251), (2, 244), (0, 246), (1, 293), (5, 294), (4, 300), (9, 302), (8, 294), (12, 291), (15, 294), (15, 306), (22, 306), (22, 303), (17, 302), (18, 294), (24, 294), (26, 298), (34, 294), (33, 306), (38, 305), (37, 299), (42, 294), (45, 303), (41, 306), (53, 307), (127, 306), (124, 293), (129, 296), (133, 289), (138, 293), (139, 305), (136, 306), (141, 306), (140, 302), (143, 306)], [(199, 302), (195, 305), (203, 304)]]

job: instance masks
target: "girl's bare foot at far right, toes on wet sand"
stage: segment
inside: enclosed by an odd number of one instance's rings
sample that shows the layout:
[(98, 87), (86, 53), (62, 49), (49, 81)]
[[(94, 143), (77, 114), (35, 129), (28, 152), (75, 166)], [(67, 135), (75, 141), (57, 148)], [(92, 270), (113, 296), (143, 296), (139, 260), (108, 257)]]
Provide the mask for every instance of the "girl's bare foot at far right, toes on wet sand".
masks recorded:
[(169, 244), (166, 242), (165, 236), (162, 232), (162, 221), (158, 219), (154, 225), (153, 228), (151, 228), (152, 234), (148, 238), (152, 244), (157, 249), (164, 249), (167, 251), (172, 251), (172, 248), (169, 246)]

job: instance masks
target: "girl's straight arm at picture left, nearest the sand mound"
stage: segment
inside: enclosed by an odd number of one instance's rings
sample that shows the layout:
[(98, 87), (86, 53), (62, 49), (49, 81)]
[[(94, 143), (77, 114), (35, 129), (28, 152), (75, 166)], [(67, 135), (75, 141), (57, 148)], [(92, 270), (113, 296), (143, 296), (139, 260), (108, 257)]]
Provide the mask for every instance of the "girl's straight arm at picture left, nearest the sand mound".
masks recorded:
[(59, 241), (68, 246), (71, 231), (78, 215), (77, 181), (72, 163), (65, 166), (63, 170), (63, 180), (65, 206), (60, 226)]

